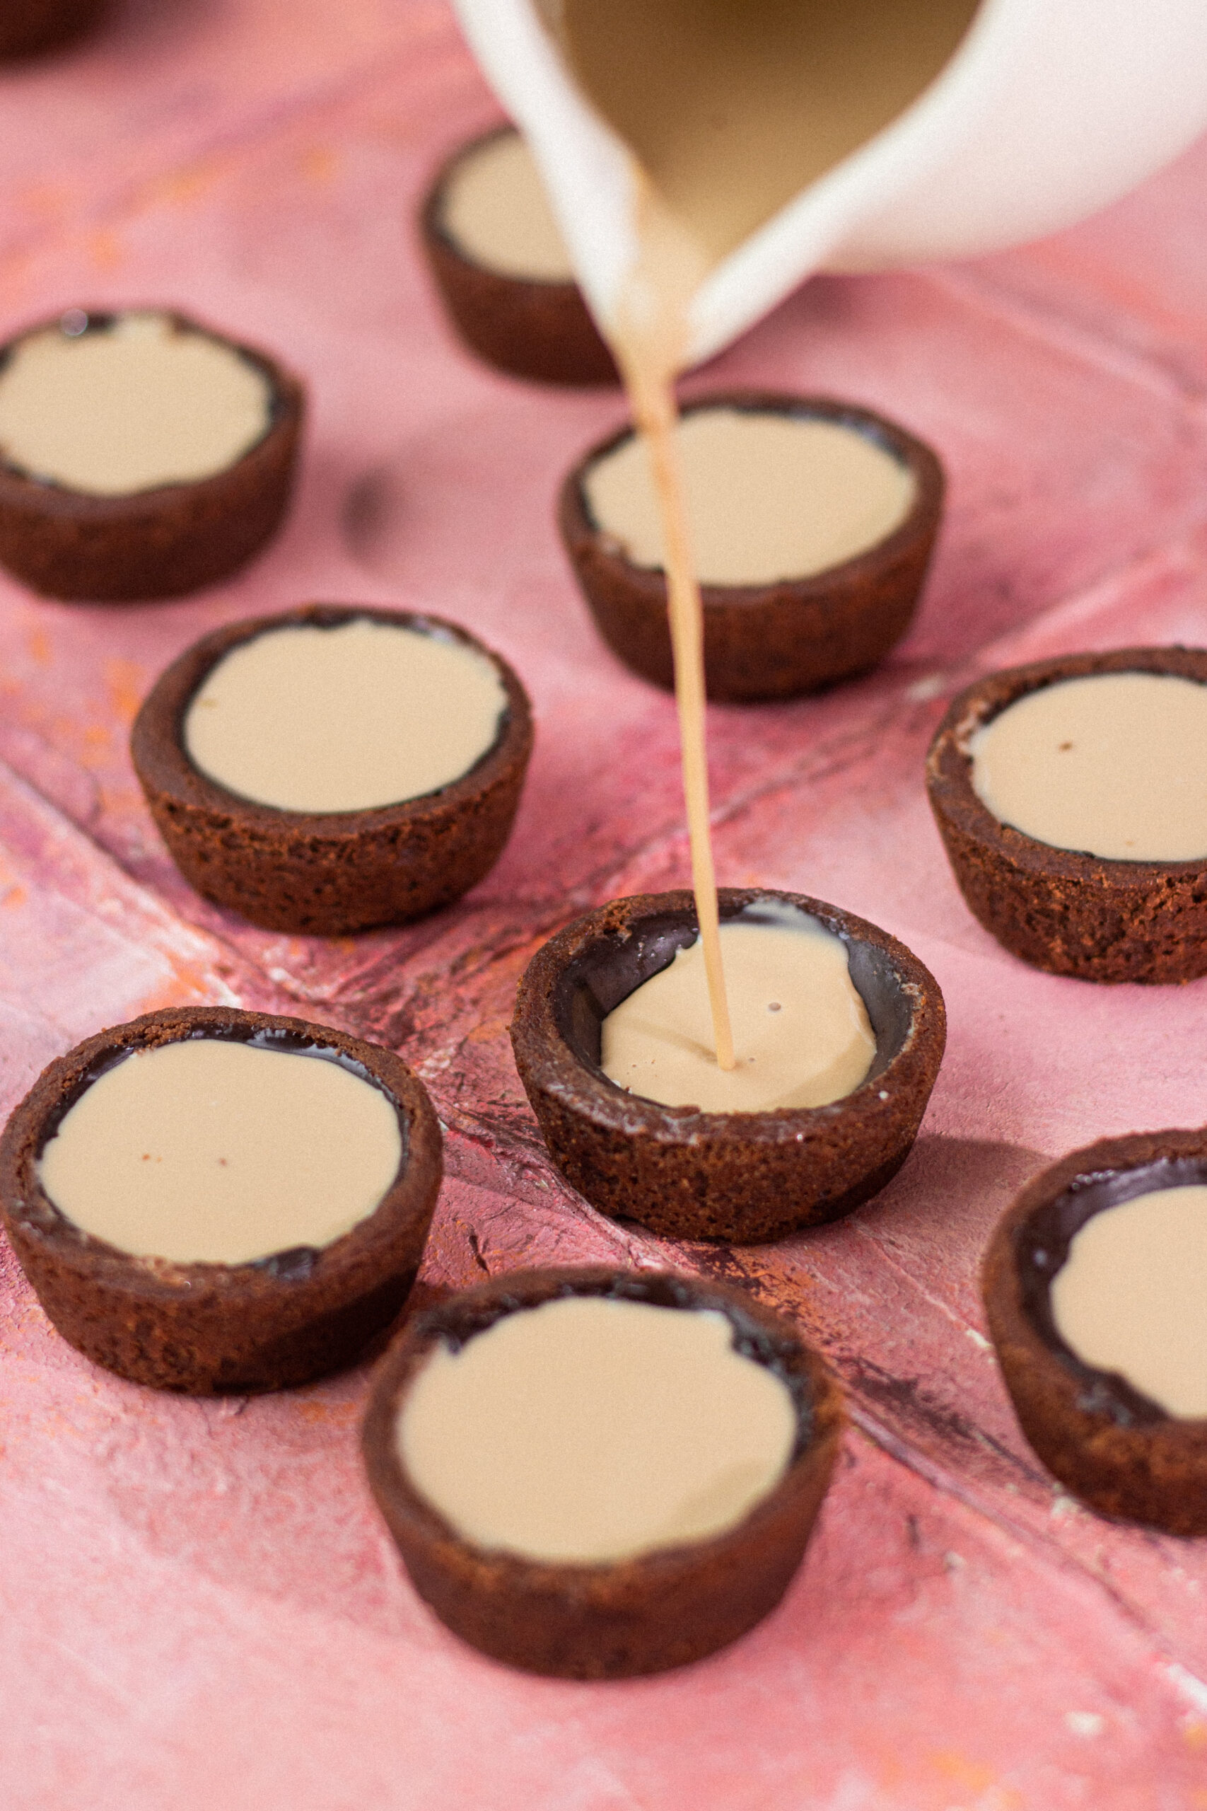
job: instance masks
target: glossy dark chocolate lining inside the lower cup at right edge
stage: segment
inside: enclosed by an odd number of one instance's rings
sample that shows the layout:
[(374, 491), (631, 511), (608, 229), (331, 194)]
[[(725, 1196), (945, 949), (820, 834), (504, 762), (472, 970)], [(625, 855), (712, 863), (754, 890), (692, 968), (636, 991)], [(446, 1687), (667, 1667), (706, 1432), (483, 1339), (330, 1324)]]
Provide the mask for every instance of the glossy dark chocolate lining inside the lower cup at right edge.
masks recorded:
[(1079, 1358), (1057, 1329), (1051, 1284), (1068, 1262), (1073, 1237), (1095, 1213), (1118, 1208), (1124, 1201), (1135, 1201), (1136, 1195), (1194, 1184), (1207, 1184), (1207, 1155), (1160, 1157), (1136, 1170), (1088, 1172), (1079, 1175), (1055, 1201), (1037, 1208), (1013, 1235), (1024, 1313), (1060, 1364), (1086, 1385), (1079, 1405), (1089, 1413), (1109, 1414), (1120, 1427), (1191, 1418), (1171, 1416), (1158, 1402), (1129, 1384), (1122, 1373), (1098, 1371)]

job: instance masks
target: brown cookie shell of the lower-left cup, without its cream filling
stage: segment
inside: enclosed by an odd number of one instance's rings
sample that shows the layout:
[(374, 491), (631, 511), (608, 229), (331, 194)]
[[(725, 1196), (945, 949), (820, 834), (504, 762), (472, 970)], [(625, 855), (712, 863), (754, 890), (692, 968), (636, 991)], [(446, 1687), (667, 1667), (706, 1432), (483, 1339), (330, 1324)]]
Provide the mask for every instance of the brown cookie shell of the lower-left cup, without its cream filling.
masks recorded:
[[(250, 1264), (134, 1257), (69, 1221), (38, 1179), (67, 1110), (132, 1050), (192, 1038), (322, 1050), (378, 1087), (398, 1112), (398, 1177), (367, 1219), (333, 1244)], [(420, 1081), (389, 1050), (328, 1025), (172, 1007), (87, 1038), (51, 1063), (0, 1139), (0, 1208), (47, 1315), (96, 1364), (195, 1396), (291, 1389), (351, 1364), (407, 1298), (440, 1192), (440, 1126)]]

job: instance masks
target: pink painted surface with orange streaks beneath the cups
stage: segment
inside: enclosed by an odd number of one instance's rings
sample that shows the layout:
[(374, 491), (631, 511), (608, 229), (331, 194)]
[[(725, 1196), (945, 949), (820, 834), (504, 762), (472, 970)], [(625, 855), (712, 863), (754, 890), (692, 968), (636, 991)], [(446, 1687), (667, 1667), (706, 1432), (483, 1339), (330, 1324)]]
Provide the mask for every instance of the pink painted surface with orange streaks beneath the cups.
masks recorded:
[[(610, 395), (465, 357), (414, 252), (440, 152), (492, 118), (434, 0), (116, 4), (0, 76), (0, 331), (176, 302), (311, 386), (302, 487), (244, 578), (71, 608), (0, 580), (0, 1108), (78, 1038), (176, 1000), (304, 1011), (398, 1049), (449, 1126), (420, 1297), (532, 1260), (671, 1260), (794, 1315), (852, 1431), (784, 1608), (680, 1675), (579, 1688), (461, 1648), (364, 1489), (367, 1365), (159, 1398), (49, 1329), (0, 1244), (0, 1802), (14, 1811), (1064, 1811), (1207, 1806), (1207, 1548), (1053, 1489), (983, 1338), (975, 1266), (1041, 1163), (1207, 1114), (1205, 987), (1033, 974), (966, 915), (921, 788), (993, 665), (1207, 619), (1207, 145), (1109, 214), (974, 268), (820, 281), (693, 382), (870, 402), (950, 514), (914, 634), (823, 699), (711, 717), (722, 880), (903, 936), (950, 1011), (917, 1150), (843, 1226), (664, 1246), (552, 1172), (512, 1068), (523, 963), (584, 904), (682, 884), (670, 701), (603, 650), (552, 496)], [(461, 906), (322, 944), (253, 931), (165, 858), (127, 755), (204, 628), (306, 598), (458, 616), (525, 676), (514, 840)]]

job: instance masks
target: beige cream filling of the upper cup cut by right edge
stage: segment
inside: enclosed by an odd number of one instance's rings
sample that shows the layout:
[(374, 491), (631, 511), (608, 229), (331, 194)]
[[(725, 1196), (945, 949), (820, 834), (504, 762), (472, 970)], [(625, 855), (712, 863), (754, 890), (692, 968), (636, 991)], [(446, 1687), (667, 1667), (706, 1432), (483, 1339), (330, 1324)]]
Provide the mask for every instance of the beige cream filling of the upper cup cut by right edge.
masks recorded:
[(1003, 824), (1117, 862), (1207, 857), (1207, 686), (1091, 674), (1028, 692), (970, 741)]

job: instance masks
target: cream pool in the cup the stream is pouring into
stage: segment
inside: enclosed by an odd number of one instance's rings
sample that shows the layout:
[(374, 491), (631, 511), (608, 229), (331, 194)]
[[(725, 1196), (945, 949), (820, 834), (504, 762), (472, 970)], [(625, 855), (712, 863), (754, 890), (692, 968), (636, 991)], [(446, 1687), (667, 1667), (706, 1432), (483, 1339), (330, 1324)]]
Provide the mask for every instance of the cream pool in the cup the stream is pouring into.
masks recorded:
[(603, 1021), (601, 1068), (612, 1081), (709, 1114), (825, 1107), (858, 1088), (876, 1034), (847, 945), (793, 907), (765, 902), (758, 915), (720, 925), (735, 1067), (717, 1063), (695, 942)]

